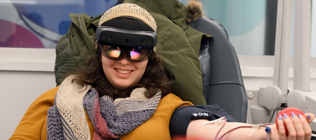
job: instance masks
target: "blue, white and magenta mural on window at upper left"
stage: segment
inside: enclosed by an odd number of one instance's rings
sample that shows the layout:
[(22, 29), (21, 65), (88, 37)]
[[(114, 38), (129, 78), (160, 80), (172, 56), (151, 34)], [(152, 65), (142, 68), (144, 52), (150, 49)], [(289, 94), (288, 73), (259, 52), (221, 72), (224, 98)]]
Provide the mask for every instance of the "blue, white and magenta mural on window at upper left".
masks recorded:
[(70, 27), (69, 13), (97, 16), (118, 0), (4, 0), (0, 3), (0, 47), (55, 48)]

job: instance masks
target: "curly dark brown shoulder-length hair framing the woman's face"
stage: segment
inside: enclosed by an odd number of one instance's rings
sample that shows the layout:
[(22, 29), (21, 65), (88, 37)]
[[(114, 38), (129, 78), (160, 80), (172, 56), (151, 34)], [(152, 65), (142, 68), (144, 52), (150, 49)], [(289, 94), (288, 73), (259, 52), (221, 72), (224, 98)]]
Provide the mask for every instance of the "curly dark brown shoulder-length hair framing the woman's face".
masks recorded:
[[(97, 43), (97, 40), (93, 42), (94, 45)], [(76, 82), (82, 86), (91, 85), (96, 88), (100, 96), (109, 95), (114, 99), (129, 97), (133, 89), (140, 87), (148, 90), (146, 93), (146, 97), (148, 98), (153, 97), (159, 90), (161, 91), (162, 97), (170, 92), (171, 83), (168, 78), (170, 74), (164, 69), (161, 58), (157, 56), (155, 52), (149, 56), (146, 70), (138, 84), (131, 88), (118, 91), (117, 93), (115, 93), (113, 86), (107, 80), (100, 60), (101, 50), (100, 47), (98, 47), (94, 55), (88, 58), (87, 64), (71, 74), (78, 76), (76, 79), (73, 79), (72, 82)]]

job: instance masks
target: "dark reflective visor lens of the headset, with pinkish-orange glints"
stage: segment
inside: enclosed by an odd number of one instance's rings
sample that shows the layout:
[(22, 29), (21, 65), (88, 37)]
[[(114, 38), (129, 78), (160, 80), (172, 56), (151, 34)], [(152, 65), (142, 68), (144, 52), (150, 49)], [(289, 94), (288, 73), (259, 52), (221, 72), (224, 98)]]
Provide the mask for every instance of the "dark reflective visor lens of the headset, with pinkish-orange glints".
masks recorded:
[(113, 60), (117, 59), (120, 60), (124, 57), (123, 52), (127, 52), (129, 56), (126, 58), (131, 61), (141, 62), (147, 55), (149, 55), (149, 52), (151, 50), (143, 50), (143, 49), (137, 49), (137, 47), (131, 47), (131, 46), (109, 46), (101, 44), (102, 49), (106, 53), (106, 56), (108, 58), (111, 58)]

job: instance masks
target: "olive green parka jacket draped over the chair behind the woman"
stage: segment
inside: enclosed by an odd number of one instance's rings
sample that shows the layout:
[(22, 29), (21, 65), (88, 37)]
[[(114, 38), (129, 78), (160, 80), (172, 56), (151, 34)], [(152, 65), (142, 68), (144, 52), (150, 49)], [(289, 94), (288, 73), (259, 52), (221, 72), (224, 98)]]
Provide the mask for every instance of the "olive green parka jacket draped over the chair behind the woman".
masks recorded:
[[(125, 0), (146, 9), (157, 24), (156, 54), (172, 75), (172, 93), (194, 105), (205, 105), (202, 73), (198, 59), (201, 39), (211, 35), (186, 25), (187, 6), (175, 0)], [(94, 38), (100, 16), (70, 14), (69, 31), (56, 46), (55, 77), (59, 85), (64, 76), (84, 65), (94, 53)]]

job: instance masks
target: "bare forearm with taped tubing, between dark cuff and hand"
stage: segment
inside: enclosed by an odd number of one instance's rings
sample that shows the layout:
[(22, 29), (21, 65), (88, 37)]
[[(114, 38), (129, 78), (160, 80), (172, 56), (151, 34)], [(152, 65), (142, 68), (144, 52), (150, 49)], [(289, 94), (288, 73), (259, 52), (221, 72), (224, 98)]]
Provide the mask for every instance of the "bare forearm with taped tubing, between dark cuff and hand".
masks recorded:
[[(188, 129), (186, 131), (187, 139), (214, 139), (216, 133), (219, 131), (223, 124), (219, 124), (217, 127), (212, 127), (213, 124), (202, 125), (207, 120), (193, 120), (190, 122)], [(225, 132), (238, 127), (238, 126), (252, 126), (251, 124), (238, 123), (238, 122), (227, 122), (223, 127), (222, 131), (219, 133), (218, 137), (221, 137)], [(250, 130), (252, 128), (240, 128), (226, 134), (223, 139), (234, 139), (234, 140), (244, 140), (244, 139), (267, 139), (267, 133), (264, 131), (265, 128), (259, 127), (254, 135), (248, 137)]]

